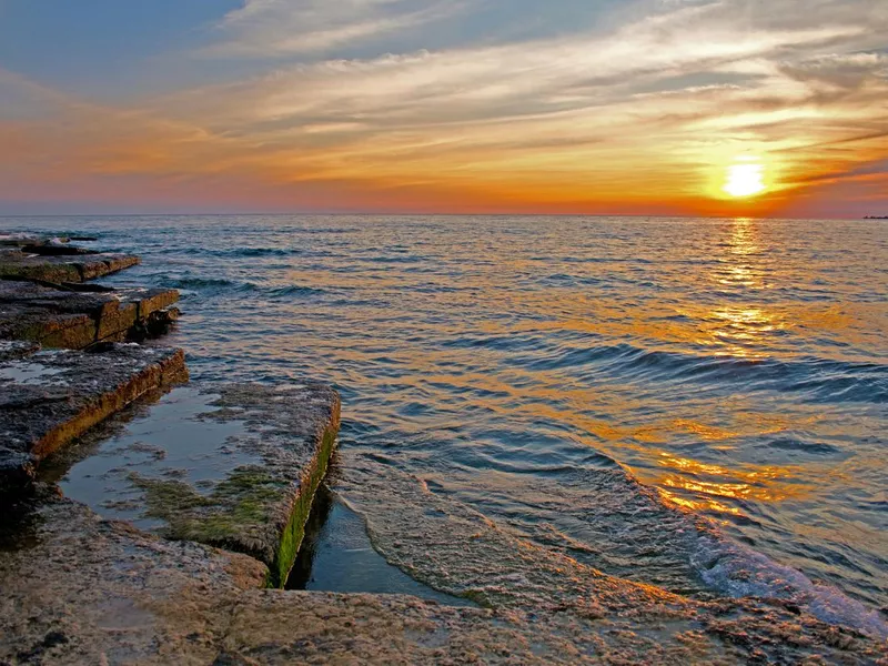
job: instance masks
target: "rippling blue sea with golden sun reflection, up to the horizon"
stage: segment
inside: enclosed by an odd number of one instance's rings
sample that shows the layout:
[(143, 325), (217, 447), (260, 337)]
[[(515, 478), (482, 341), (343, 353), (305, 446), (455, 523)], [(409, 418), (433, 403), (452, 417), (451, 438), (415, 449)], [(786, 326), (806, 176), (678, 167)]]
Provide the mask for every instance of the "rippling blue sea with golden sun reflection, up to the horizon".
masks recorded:
[[(886, 632), (884, 221), (0, 228), (94, 234), (94, 246), (141, 255), (105, 282), (180, 290), (183, 316), (162, 343), (186, 350), (198, 384), (333, 384), (343, 423), (325, 516), (400, 575), (464, 593), (467, 565), (435, 561), (443, 542), (496, 572), (509, 548), (473, 549), (464, 527), (481, 521), (525, 559), (567, 557), (688, 597), (793, 598)], [(317, 566), (303, 577), (322, 588), (379, 581), (359, 562), (323, 583)]]

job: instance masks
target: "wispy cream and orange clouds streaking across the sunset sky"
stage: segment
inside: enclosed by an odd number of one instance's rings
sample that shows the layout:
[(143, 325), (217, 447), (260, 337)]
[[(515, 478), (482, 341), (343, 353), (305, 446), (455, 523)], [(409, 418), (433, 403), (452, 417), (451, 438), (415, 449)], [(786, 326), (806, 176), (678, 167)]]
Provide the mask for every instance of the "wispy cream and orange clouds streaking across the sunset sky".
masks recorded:
[[(18, 119), (0, 108), (0, 140), (14, 133), (28, 167), (8, 173), (78, 174), (91, 188), (125, 176), (195, 196), (224, 183), (226, 198), (281, 208), (327, 196), (357, 209), (624, 212), (728, 210), (717, 196), (738, 155), (765, 163), (768, 211), (791, 210), (793, 192), (811, 201), (803, 193), (824, 183), (881, 176), (865, 165), (888, 155), (882, 2), (646, 1), (607, 31), (366, 59), (312, 53), (452, 7), (249, 0), (225, 17), (215, 48), (283, 59), (273, 70), (138, 105), (29, 102), (19, 81)], [(29, 120), (29, 103), (56, 118)]]

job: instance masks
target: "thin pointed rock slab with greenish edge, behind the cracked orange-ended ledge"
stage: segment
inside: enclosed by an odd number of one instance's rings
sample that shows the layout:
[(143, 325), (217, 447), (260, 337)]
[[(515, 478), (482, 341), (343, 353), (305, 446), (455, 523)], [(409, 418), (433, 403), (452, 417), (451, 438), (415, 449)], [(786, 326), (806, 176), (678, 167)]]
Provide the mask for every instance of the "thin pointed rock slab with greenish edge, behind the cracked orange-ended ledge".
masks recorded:
[(19, 248), (4, 248), (0, 252), (0, 278), (33, 279), (56, 283), (84, 282), (117, 273), (138, 264), (139, 261), (138, 256), (127, 254), (44, 256), (23, 252)]

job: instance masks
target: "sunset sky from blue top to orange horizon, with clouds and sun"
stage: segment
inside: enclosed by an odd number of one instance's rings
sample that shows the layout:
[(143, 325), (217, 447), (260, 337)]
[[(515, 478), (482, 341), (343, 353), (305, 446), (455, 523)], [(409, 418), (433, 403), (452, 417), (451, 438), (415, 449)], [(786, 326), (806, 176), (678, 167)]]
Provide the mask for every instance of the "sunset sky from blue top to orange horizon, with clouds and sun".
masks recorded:
[(888, 214), (885, 0), (0, 0), (0, 214)]

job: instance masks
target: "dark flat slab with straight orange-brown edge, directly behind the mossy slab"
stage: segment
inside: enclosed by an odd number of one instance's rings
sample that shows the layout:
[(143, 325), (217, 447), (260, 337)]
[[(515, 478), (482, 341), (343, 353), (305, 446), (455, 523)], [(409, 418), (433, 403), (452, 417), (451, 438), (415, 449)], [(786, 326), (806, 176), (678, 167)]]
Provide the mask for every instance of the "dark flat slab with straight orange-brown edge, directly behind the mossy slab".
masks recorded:
[(87, 353), (0, 341), (0, 496), (49, 454), (149, 392), (188, 379), (182, 350), (109, 344)]

